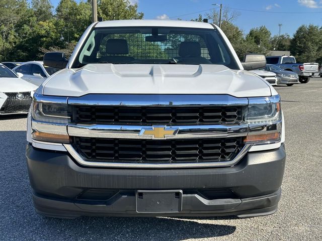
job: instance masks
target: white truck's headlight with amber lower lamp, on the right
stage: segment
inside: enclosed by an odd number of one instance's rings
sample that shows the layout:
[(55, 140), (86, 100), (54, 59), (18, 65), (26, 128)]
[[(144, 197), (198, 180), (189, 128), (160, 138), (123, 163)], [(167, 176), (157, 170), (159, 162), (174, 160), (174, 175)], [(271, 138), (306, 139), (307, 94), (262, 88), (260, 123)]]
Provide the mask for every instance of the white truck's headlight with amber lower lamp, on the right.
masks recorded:
[(250, 98), (245, 121), (249, 124), (247, 144), (271, 144), (281, 140), (282, 111), (280, 96)]

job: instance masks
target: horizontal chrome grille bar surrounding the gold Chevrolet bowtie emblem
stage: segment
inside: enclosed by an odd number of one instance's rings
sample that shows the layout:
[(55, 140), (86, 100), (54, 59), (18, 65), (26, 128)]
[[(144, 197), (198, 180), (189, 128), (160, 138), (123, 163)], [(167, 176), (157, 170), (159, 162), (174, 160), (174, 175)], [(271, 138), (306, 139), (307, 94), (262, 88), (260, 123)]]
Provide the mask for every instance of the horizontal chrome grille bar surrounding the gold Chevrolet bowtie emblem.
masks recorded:
[[(156, 126), (154, 126), (156, 127)], [(166, 139), (243, 137), (248, 134), (248, 125), (205, 125), (205, 126), (162, 126), (165, 130), (174, 130), (176, 135)], [(74, 137), (120, 138), (120, 139), (157, 139), (153, 136), (139, 135), (142, 130), (151, 126), (118, 126), (118, 125), (86, 125), (68, 124), (67, 132)], [(165, 138), (161, 138), (165, 139)]]

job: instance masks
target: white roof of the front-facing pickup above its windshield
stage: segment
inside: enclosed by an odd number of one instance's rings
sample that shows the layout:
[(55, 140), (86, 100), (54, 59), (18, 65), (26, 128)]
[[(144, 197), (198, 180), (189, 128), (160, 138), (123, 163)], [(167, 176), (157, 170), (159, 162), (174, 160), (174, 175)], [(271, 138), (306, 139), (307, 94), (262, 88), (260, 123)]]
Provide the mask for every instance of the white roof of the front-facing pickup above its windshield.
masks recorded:
[(99, 22), (95, 27), (180, 27), (214, 29), (213, 25), (209, 23), (184, 20), (113, 20)]

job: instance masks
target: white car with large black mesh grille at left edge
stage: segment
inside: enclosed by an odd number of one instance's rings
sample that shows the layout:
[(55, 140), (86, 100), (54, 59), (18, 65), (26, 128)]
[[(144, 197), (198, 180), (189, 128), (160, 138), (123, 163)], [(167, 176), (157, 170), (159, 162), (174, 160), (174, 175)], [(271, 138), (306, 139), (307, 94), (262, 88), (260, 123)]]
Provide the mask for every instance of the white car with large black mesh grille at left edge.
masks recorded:
[(36, 89), (36, 85), (0, 64), (0, 115), (27, 113)]

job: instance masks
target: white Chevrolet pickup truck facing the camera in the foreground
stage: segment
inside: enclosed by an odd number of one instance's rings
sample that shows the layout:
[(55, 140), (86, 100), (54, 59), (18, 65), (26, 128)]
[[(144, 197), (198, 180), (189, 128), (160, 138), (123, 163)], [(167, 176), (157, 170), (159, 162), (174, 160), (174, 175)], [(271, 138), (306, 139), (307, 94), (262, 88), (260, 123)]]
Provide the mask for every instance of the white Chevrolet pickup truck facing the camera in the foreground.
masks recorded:
[(27, 165), (50, 217), (253, 217), (277, 210), (280, 96), (209, 23), (92, 24), (34, 94)]

